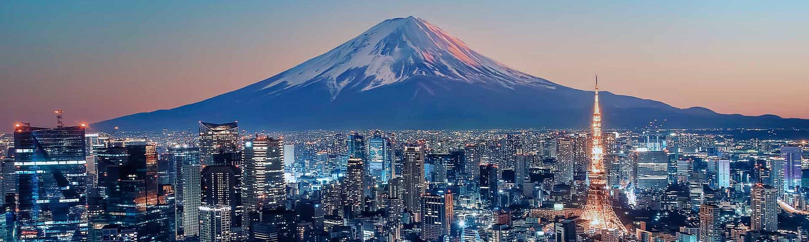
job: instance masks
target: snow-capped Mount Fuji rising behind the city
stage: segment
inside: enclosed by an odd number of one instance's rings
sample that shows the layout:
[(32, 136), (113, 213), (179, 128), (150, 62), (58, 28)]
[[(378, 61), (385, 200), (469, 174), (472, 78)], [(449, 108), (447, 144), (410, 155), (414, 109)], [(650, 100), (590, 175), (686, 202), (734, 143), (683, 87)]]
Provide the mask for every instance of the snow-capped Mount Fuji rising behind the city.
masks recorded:
[[(721, 115), (602, 91), (605, 127), (809, 127), (807, 119)], [(292, 69), (201, 102), (95, 123), (100, 130), (587, 127), (593, 92), (481, 55), (424, 19), (388, 19)]]

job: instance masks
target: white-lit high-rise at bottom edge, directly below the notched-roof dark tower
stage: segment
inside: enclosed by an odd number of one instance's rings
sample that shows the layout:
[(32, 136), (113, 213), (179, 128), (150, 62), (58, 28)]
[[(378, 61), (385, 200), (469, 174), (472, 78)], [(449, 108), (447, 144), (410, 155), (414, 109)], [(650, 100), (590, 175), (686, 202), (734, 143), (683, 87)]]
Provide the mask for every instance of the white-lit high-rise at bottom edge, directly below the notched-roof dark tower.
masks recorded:
[(230, 242), (231, 207), (203, 205), (200, 211), (200, 242)]

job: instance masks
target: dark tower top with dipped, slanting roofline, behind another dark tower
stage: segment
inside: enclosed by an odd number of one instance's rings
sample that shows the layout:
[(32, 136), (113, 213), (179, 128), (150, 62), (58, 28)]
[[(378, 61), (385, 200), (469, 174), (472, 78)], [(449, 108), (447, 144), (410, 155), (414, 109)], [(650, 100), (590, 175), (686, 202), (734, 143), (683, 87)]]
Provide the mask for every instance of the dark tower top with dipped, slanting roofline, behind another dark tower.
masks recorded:
[(200, 164), (211, 165), (214, 154), (238, 152), (239, 123), (200, 122)]

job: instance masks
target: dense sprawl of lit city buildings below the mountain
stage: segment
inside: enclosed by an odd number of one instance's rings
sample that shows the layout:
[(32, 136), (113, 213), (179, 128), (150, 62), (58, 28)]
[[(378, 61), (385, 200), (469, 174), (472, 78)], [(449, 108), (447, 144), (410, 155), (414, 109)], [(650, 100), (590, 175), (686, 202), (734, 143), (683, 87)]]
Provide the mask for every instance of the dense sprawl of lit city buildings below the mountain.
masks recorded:
[(16, 123), (0, 140), (0, 241), (807, 241), (806, 141), (602, 133), (598, 119), (597, 131)]

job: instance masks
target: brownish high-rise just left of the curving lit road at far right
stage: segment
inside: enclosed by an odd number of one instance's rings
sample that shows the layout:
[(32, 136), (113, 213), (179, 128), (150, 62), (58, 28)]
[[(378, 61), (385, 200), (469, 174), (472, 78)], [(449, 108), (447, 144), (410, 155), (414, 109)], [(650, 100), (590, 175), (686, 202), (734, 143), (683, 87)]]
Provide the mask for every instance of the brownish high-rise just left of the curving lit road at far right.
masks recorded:
[(750, 191), (750, 229), (778, 230), (778, 193), (773, 186), (756, 184)]

